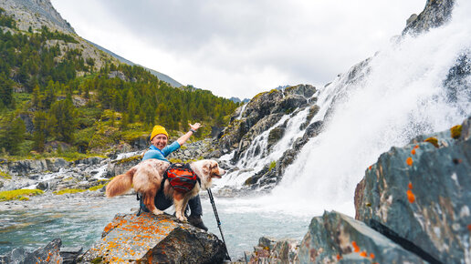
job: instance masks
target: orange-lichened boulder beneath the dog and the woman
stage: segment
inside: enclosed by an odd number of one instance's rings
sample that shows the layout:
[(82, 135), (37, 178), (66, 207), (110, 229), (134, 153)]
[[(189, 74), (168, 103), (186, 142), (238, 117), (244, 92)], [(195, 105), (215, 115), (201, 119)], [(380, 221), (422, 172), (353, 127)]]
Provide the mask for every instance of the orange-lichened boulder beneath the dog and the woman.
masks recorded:
[(221, 240), (168, 215), (118, 214), (80, 261), (222, 263)]

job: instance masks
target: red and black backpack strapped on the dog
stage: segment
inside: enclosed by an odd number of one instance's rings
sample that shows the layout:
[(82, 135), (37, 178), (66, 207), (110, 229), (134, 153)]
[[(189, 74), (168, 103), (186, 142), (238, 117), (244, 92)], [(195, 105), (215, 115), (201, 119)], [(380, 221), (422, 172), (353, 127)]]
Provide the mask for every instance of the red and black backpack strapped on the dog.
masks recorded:
[[(194, 188), (200, 179), (190, 168), (190, 164), (173, 163), (163, 174), (163, 180), (168, 179), (173, 189), (187, 193)], [(201, 185), (201, 182), (200, 182)]]

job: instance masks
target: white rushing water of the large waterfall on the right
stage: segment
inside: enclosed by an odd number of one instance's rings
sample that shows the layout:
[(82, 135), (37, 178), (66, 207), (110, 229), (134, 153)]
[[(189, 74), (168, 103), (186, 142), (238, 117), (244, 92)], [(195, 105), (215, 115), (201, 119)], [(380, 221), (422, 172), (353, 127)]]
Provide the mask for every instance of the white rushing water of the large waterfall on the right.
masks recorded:
[(337, 97), (323, 132), (301, 149), (271, 195), (240, 200), (235, 207), (311, 216), (335, 209), (353, 216), (354, 189), (383, 152), (417, 135), (461, 124), (471, 115), (466, 96), (470, 76), (454, 103), (444, 87), (456, 59), (470, 53), (470, 13), (470, 1), (457, 1), (447, 25), (384, 46), (372, 57), (364, 79), (346, 84), (345, 74), (321, 89), (317, 119), (323, 119)]

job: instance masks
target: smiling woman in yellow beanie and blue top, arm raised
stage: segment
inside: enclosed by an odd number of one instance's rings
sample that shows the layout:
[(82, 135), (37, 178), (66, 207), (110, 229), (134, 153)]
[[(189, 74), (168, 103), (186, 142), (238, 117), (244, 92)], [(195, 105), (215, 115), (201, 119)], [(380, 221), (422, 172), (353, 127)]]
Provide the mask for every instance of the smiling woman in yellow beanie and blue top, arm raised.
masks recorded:
[[(169, 156), (173, 151), (180, 148), (188, 138), (192, 137), (192, 135), (201, 127), (200, 123), (195, 123), (194, 125), (190, 125), (190, 131), (188, 131), (185, 135), (178, 138), (175, 142), (171, 145), (167, 146), (169, 140), (169, 134), (162, 126), (155, 126), (152, 129), (151, 133), (151, 147), (144, 153), (142, 160), (146, 160), (149, 158), (157, 158), (167, 162), (168, 161), (165, 157)], [(154, 198), (155, 207), (164, 210), (166, 208), (170, 208), (173, 205), (172, 199), (166, 198), (162, 191), (157, 192), (157, 195)], [(196, 196), (188, 201), (188, 205), (190, 206), (191, 215), (188, 217), (188, 221), (194, 225), (196, 228), (202, 228), (205, 231), (208, 230), (204, 226), (203, 219), (201, 216), (203, 215), (203, 208), (201, 208), (201, 199), (200, 196)], [(149, 212), (149, 209), (145, 207), (141, 199), (141, 210), (144, 212)]]

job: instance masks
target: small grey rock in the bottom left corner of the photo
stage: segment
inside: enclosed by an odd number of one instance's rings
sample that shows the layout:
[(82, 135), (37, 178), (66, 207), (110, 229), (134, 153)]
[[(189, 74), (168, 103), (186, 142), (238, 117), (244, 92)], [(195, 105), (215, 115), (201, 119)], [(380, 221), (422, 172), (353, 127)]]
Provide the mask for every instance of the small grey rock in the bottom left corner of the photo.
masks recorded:
[(62, 263), (59, 249), (62, 245), (60, 239), (54, 239), (44, 248), (28, 252), (25, 249), (13, 249), (10, 253), (0, 256), (0, 263)]

